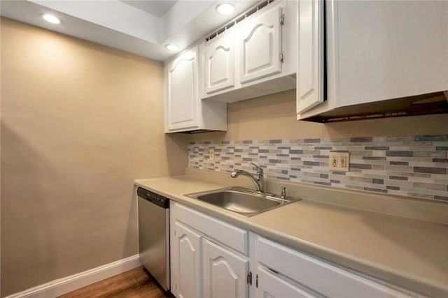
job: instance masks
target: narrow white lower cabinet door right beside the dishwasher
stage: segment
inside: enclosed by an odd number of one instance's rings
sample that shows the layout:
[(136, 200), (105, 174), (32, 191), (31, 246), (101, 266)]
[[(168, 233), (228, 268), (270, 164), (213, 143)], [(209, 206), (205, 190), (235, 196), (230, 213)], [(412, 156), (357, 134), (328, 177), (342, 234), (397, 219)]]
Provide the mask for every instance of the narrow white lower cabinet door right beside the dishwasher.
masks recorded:
[(175, 221), (171, 241), (172, 292), (178, 298), (201, 295), (201, 235)]

